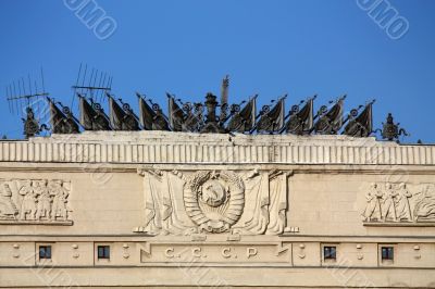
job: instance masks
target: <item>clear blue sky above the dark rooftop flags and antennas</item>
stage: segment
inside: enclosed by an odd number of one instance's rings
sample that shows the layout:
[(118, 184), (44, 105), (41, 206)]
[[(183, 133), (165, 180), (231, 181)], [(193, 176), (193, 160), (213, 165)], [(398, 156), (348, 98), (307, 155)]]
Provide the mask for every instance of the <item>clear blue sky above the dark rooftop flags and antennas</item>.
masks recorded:
[[(229, 74), (232, 102), (288, 92), (289, 108), (318, 93), (318, 109), (347, 93), (351, 109), (376, 98), (375, 127), (391, 112), (412, 134), (405, 141), (435, 142), (435, 1), (389, 1), (409, 22), (399, 40), (355, 0), (97, 2), (117, 23), (105, 40), (61, 0), (1, 0), (2, 95), (44, 66), (47, 90), (71, 103), (83, 62), (109, 72), (113, 92), (136, 109), (137, 90), (162, 104), (165, 91), (199, 101)], [(20, 117), (1, 103), (0, 134), (21, 137)]]

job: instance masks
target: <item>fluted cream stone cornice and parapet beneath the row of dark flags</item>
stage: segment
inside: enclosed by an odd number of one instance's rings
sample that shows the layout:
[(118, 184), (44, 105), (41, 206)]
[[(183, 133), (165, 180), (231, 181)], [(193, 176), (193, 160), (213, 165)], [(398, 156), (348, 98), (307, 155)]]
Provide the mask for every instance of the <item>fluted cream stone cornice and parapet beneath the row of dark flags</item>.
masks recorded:
[(435, 165), (435, 146), (346, 136), (87, 131), (2, 140), (0, 162)]

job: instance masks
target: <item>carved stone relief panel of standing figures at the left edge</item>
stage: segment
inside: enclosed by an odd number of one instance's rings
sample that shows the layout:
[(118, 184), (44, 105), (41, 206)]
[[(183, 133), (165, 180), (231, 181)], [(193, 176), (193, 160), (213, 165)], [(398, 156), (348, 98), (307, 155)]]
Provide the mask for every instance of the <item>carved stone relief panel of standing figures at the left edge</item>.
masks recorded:
[(0, 179), (0, 224), (70, 224), (70, 191), (60, 179)]

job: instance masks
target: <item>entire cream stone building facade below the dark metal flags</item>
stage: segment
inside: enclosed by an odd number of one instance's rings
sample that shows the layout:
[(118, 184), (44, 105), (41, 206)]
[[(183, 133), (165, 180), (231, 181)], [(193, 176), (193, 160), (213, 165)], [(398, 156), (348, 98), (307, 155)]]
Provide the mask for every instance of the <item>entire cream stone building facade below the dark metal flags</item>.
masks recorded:
[(435, 146), (165, 131), (0, 142), (0, 288), (435, 288), (434, 236)]

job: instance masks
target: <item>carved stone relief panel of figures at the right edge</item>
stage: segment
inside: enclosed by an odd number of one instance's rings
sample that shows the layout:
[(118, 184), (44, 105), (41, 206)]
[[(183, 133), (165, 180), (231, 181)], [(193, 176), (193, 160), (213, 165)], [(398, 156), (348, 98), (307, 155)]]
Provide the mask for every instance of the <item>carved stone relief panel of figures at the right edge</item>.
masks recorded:
[(361, 213), (364, 223), (435, 222), (435, 186), (405, 183), (372, 184)]

